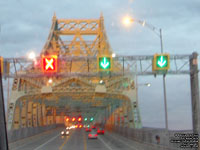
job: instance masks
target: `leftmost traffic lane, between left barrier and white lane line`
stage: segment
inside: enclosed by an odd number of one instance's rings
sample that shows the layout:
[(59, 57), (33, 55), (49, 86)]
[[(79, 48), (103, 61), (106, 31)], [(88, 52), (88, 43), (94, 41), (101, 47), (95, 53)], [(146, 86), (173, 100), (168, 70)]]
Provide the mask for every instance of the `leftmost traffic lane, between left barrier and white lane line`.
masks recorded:
[(59, 136), (60, 132), (63, 128), (53, 129), (35, 136), (31, 136), (17, 142), (9, 143), (10, 150), (33, 150), (38, 146), (44, 144), (49, 140), (53, 140), (52, 138), (56, 138)]

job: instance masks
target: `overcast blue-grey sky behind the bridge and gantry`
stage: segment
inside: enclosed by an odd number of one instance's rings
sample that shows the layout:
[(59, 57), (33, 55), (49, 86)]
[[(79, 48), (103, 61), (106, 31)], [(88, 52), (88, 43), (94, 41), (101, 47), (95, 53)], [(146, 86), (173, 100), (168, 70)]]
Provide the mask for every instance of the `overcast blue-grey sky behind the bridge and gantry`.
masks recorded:
[[(152, 55), (160, 52), (159, 37), (134, 23), (124, 27), (123, 16), (145, 20), (162, 28), (164, 51), (170, 54), (200, 52), (199, 0), (0, 0), (0, 55), (23, 56), (41, 51), (57, 18), (99, 18), (103, 13), (109, 42), (117, 54)], [(189, 76), (167, 76), (170, 129), (191, 129)], [(139, 77), (139, 104), (144, 126), (164, 127), (161, 77)], [(177, 88), (179, 87), (179, 88)]]

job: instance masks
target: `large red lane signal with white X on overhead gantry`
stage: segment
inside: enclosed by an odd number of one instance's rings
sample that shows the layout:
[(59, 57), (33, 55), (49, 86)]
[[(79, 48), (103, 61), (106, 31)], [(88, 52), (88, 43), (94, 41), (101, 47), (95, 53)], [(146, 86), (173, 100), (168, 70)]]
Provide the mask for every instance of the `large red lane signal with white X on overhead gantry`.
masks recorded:
[(42, 68), (44, 72), (57, 72), (57, 56), (43, 56)]

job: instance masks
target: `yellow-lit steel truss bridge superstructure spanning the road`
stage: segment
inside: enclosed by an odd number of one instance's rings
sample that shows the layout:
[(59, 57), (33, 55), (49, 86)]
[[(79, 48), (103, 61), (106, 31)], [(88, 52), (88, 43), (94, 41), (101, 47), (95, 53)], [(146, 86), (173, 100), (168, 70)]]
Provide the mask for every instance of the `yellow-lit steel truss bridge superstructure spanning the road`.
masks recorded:
[[(8, 130), (64, 123), (65, 116), (78, 114), (94, 116), (108, 127), (140, 128), (136, 76), (134, 71), (124, 74), (134, 67), (116, 60), (112, 71), (98, 71), (96, 57), (112, 53), (102, 15), (99, 19), (57, 19), (54, 15), (39, 57), (6, 60), (14, 62), (15, 70), (14, 76), (7, 75), (14, 78)], [(44, 55), (58, 57), (56, 74), (43, 73)], [(114, 74), (120, 70), (121, 74)]]

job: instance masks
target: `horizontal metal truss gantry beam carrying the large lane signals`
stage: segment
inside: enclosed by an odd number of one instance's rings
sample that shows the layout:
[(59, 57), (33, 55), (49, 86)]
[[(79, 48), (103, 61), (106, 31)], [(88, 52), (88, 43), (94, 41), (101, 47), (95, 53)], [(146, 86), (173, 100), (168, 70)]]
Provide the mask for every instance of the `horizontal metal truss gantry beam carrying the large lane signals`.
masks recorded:
[[(191, 55), (170, 55), (170, 70), (167, 74), (190, 74), (189, 59)], [(35, 60), (40, 62), (40, 57)], [(87, 71), (81, 72), (57, 72), (48, 76), (56, 77), (101, 77), (101, 76), (129, 76), (135, 75), (155, 75), (152, 71), (152, 59), (153, 55), (137, 55), (137, 56), (117, 56), (113, 58), (113, 67), (118, 67), (118, 70), (114, 70), (107, 73), (97, 72), (95, 69), (90, 68), (91, 64), (95, 64), (97, 57), (91, 56), (62, 56), (58, 57), (59, 61), (72, 64), (74, 62), (82, 62), (80, 70), (83, 67), (88, 68)], [(34, 72), (35, 61), (28, 58), (4, 58), (4, 63), (10, 63), (10, 73), (4, 73), (5, 78), (40, 78), (47, 76), (40, 69)], [(117, 65), (116, 65), (117, 64)], [(97, 64), (96, 64), (97, 65)], [(31, 72), (30, 70), (33, 70)], [(38, 68), (37, 68), (38, 69)], [(19, 71), (17, 71), (19, 70)]]

